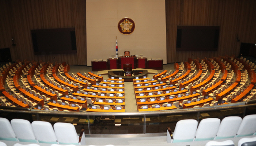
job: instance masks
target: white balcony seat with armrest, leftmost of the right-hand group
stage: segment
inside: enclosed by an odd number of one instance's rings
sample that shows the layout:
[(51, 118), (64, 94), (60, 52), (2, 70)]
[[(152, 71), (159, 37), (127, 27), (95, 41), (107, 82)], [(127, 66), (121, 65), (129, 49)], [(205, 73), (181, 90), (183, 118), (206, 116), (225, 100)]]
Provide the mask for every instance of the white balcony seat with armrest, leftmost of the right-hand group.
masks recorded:
[[(189, 142), (193, 141), (198, 122), (196, 120), (181, 120), (176, 123), (174, 134), (171, 136), (167, 130), (167, 142)], [(173, 137), (173, 138), (172, 138)]]

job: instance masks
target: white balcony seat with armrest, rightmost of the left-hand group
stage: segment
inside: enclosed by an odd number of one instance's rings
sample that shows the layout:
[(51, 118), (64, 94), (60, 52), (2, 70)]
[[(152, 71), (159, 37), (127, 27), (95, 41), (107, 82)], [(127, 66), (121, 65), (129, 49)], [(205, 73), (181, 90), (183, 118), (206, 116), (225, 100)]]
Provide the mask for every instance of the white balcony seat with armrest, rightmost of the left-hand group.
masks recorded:
[(82, 129), (78, 136), (73, 124), (57, 122), (54, 124), (54, 130), (59, 144), (85, 145), (84, 130)]

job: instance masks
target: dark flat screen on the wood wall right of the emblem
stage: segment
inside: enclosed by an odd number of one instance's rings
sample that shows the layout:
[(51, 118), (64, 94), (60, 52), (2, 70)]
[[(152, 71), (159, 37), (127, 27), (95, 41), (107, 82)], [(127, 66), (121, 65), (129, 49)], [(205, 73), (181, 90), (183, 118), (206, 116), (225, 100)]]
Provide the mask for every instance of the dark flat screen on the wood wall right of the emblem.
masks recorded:
[(177, 51), (216, 51), (219, 26), (177, 26)]

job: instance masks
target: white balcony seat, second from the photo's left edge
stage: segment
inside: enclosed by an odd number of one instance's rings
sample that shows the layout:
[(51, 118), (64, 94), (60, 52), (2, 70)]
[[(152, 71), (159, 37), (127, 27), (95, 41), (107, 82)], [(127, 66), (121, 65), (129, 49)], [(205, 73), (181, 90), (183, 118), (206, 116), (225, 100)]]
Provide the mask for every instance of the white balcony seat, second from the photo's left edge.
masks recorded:
[(18, 138), (18, 141), (37, 143), (34, 131), (29, 121), (23, 119), (12, 119), (11, 126)]

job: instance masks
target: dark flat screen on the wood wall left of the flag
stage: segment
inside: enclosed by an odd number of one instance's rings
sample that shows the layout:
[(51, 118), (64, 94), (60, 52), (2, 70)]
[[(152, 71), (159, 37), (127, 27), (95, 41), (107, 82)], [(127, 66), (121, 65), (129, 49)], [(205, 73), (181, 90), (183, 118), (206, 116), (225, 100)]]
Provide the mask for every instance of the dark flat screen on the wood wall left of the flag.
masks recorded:
[(75, 28), (31, 30), (35, 55), (76, 53)]

